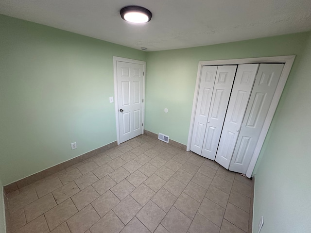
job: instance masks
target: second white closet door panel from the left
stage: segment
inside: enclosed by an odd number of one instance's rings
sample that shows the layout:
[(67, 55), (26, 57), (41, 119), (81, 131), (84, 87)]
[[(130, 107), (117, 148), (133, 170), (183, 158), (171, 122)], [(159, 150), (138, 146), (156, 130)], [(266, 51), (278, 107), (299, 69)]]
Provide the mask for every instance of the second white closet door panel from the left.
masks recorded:
[(236, 69), (237, 66), (219, 66), (217, 68), (201, 153), (202, 156), (211, 160), (215, 160)]

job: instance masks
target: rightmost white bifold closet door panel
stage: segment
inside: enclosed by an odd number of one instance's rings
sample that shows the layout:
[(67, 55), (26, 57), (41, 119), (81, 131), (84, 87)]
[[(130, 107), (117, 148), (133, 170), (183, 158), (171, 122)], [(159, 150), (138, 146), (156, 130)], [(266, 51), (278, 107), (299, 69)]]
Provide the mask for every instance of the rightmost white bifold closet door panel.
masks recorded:
[(260, 64), (229, 170), (246, 173), (284, 64)]

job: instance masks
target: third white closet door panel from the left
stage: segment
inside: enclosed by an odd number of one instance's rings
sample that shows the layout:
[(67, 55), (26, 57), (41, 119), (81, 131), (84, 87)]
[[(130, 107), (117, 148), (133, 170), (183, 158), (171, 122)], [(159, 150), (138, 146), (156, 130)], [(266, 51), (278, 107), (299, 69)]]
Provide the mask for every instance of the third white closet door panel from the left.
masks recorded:
[(216, 162), (228, 169), (259, 64), (239, 65), (220, 137)]

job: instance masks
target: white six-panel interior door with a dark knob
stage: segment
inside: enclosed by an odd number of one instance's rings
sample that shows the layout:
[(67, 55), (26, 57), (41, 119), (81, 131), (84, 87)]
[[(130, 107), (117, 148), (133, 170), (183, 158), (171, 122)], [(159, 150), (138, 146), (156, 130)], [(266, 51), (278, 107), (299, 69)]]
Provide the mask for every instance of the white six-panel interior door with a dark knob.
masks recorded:
[(117, 61), (120, 143), (142, 133), (143, 65)]

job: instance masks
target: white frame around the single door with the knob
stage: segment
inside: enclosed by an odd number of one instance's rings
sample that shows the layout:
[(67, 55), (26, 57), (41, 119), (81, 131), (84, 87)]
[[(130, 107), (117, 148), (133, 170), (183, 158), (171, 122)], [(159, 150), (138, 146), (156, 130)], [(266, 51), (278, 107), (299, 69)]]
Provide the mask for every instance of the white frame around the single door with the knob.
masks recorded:
[(120, 145), (120, 128), (119, 128), (119, 106), (118, 106), (118, 78), (117, 78), (117, 62), (127, 62), (143, 65), (143, 83), (142, 83), (142, 131), (144, 134), (145, 128), (145, 81), (146, 81), (146, 62), (133, 60), (129, 58), (113, 56), (113, 79), (114, 79), (114, 92), (115, 92), (115, 114), (116, 114), (116, 127), (117, 127), (117, 143)]

